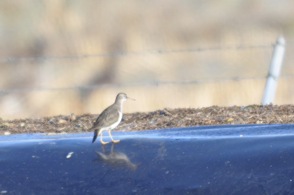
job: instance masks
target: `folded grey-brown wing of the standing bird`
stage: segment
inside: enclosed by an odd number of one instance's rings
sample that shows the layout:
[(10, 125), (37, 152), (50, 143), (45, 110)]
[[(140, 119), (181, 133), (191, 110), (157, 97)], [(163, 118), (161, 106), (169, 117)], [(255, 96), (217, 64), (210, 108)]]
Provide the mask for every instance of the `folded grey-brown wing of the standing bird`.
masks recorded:
[[(93, 127), (101, 128), (107, 127), (109, 123), (115, 123), (118, 120), (119, 112), (111, 112), (111, 106), (103, 110), (103, 112), (98, 116), (96, 122), (94, 123)], [(92, 127), (92, 128), (93, 128)]]

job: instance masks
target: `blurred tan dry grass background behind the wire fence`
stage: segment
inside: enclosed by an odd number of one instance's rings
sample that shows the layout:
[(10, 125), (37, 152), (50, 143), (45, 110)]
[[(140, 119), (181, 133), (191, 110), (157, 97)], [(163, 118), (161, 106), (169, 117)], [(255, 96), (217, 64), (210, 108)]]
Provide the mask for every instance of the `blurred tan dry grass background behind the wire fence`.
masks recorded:
[[(0, 117), (96, 114), (119, 92), (137, 100), (124, 112), (259, 104), (280, 34), (288, 44), (273, 103), (292, 104), (293, 7), (291, 0), (2, 0)], [(76, 87), (88, 85), (96, 87)], [(38, 88), (55, 90), (31, 90)]]

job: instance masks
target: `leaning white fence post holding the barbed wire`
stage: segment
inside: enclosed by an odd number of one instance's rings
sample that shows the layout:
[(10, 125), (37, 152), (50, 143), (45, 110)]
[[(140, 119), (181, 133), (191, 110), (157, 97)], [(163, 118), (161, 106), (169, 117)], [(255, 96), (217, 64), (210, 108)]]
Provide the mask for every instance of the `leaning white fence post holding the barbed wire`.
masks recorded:
[(284, 59), (284, 53), (285, 39), (282, 36), (278, 36), (273, 49), (270, 68), (268, 69), (268, 76), (266, 78), (263, 96), (261, 100), (262, 105), (270, 104), (273, 102), (277, 86), (277, 80), (280, 75), (280, 70)]

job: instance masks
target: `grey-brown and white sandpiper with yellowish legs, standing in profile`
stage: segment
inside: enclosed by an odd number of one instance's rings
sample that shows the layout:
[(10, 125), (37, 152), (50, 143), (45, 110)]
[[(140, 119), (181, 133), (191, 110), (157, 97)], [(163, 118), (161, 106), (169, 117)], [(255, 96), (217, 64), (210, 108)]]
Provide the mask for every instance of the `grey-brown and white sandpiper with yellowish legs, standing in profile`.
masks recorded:
[(108, 131), (110, 139), (113, 143), (119, 142), (120, 140), (114, 140), (111, 136), (110, 131), (113, 130), (120, 122), (123, 116), (123, 102), (126, 100), (135, 100), (133, 98), (128, 97), (125, 93), (119, 93), (116, 96), (115, 102), (108, 106), (105, 110), (101, 112), (101, 114), (96, 119), (96, 122), (93, 126), (88, 129), (89, 131), (94, 130), (94, 137), (92, 143), (94, 143), (97, 137), (101, 134), (100, 142), (102, 145), (107, 144), (109, 142), (103, 142), (102, 140), (102, 132)]

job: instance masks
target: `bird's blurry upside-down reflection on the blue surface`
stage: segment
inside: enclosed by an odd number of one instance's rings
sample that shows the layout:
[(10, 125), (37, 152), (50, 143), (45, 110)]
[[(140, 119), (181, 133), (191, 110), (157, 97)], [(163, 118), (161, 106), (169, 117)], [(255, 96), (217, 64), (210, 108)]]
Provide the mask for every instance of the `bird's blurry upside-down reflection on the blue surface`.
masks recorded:
[(126, 154), (122, 152), (113, 151), (113, 143), (111, 145), (111, 150), (105, 152), (104, 146), (102, 145), (102, 152), (96, 152), (98, 158), (94, 159), (94, 162), (103, 162), (108, 165), (116, 166), (116, 167), (127, 167), (130, 169), (137, 169), (138, 164), (133, 164)]

